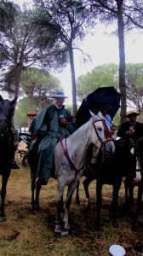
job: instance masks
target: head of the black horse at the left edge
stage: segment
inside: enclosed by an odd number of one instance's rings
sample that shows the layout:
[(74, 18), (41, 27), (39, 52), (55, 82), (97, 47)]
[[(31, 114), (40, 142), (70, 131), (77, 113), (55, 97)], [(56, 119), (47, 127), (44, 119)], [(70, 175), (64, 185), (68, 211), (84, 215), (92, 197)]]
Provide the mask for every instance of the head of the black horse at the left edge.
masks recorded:
[(12, 118), (14, 116), (14, 104), (17, 99), (12, 101), (3, 100), (0, 96), (0, 137), (11, 127)]

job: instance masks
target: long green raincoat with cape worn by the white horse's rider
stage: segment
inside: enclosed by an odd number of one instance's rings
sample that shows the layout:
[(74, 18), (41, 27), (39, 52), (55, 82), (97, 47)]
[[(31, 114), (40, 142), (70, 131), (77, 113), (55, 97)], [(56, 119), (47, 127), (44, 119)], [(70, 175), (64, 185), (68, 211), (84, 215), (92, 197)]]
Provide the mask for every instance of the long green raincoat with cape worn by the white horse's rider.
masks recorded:
[[(61, 115), (62, 118), (67, 120), (67, 126), (60, 125)], [(37, 137), (43, 137), (38, 146), (36, 177), (49, 179), (54, 168), (56, 143), (76, 130), (72, 114), (64, 106), (60, 109), (54, 105), (46, 107), (33, 119), (29, 131), (31, 131), (31, 134), (37, 135)]]

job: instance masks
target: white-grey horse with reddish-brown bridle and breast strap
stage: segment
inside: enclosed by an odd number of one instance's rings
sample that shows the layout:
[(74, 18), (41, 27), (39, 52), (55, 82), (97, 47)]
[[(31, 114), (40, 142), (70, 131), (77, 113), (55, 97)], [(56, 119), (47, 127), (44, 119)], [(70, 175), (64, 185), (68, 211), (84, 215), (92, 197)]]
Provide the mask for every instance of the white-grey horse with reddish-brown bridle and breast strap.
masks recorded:
[[(55, 177), (58, 180), (58, 203), (57, 218), (55, 220), (55, 233), (61, 230), (61, 213), (63, 212), (63, 193), (66, 186), (66, 206), (63, 217), (64, 229), (70, 230), (69, 209), (72, 202), (72, 195), (77, 187), (80, 177), (83, 176), (85, 156), (91, 143), (100, 148), (106, 144), (106, 150), (113, 153), (115, 150), (109, 129), (103, 118), (91, 113), (92, 119), (82, 125), (77, 131), (57, 143), (54, 151)], [(100, 116), (102, 117), (101, 113)]]

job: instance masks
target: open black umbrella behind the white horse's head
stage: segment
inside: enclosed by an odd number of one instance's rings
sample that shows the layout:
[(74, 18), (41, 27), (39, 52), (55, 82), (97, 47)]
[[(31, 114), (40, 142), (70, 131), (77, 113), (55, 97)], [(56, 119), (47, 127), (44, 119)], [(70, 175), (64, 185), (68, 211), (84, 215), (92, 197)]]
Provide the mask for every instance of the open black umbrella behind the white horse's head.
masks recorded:
[[(100, 87), (83, 99), (81, 106), (77, 110), (77, 126), (86, 123), (90, 118), (89, 110), (98, 113), (101, 106), (108, 108), (108, 113), (113, 119), (120, 108), (121, 94), (113, 87)], [(108, 107), (107, 107), (108, 106)]]

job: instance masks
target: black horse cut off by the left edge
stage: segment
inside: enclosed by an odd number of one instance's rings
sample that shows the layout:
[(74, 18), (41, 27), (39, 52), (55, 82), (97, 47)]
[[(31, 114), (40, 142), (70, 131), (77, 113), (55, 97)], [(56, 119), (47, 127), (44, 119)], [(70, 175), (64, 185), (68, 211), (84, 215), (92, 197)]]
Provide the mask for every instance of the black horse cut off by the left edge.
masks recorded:
[(11, 166), (14, 160), (14, 136), (11, 129), (11, 122), (14, 116), (15, 102), (16, 99), (13, 101), (3, 100), (3, 97), (0, 96), (0, 175), (2, 175), (0, 221), (6, 218), (4, 201)]

